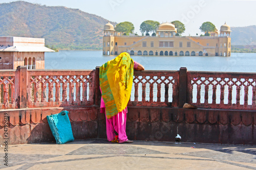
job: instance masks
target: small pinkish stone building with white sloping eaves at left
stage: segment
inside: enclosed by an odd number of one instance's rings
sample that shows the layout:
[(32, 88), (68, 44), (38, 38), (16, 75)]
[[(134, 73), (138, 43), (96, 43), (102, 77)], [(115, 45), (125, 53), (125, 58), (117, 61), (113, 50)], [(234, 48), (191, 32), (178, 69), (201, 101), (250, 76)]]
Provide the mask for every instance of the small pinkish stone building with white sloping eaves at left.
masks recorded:
[(45, 69), (45, 52), (54, 51), (44, 38), (0, 37), (0, 69)]

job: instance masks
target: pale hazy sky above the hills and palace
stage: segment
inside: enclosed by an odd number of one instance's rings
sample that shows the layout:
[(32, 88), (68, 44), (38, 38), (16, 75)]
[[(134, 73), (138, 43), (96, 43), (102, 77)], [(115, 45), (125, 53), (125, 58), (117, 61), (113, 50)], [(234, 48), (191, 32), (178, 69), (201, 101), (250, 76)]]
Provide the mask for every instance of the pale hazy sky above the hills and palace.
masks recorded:
[[(116, 22), (130, 21), (139, 35), (141, 22), (156, 20), (160, 23), (180, 20), (185, 24), (183, 35), (202, 34), (199, 27), (210, 21), (219, 30), (226, 21), (230, 27), (256, 25), (256, 0), (25, 0), (26, 2), (65, 6), (99, 15)], [(13, 1), (0, 0), (0, 3)], [(103, 26), (102, 26), (103, 28)]]

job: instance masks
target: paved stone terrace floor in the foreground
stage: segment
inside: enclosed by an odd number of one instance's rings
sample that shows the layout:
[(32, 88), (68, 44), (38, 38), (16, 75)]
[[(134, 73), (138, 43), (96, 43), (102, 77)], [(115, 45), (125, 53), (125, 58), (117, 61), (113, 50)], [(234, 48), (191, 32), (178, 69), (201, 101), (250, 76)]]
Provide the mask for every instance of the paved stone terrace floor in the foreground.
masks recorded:
[[(195, 147), (195, 148), (191, 148)], [(4, 169), (256, 169), (256, 146), (134, 141), (76, 140), (66, 144), (8, 146)]]

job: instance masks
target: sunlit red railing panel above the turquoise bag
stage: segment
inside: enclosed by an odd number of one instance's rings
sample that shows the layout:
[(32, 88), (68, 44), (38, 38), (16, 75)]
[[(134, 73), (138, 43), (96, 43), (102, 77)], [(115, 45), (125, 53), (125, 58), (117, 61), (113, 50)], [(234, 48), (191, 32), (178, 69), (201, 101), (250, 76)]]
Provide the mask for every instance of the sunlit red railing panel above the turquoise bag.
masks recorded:
[(94, 104), (95, 70), (28, 70), (28, 107)]

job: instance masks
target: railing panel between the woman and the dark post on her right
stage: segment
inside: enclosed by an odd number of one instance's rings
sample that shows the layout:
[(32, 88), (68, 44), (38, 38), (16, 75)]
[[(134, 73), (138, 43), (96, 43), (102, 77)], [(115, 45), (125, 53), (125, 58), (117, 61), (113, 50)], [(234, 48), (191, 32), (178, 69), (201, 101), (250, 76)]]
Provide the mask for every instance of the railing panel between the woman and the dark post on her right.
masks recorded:
[(129, 106), (177, 107), (178, 79), (179, 71), (135, 71)]

